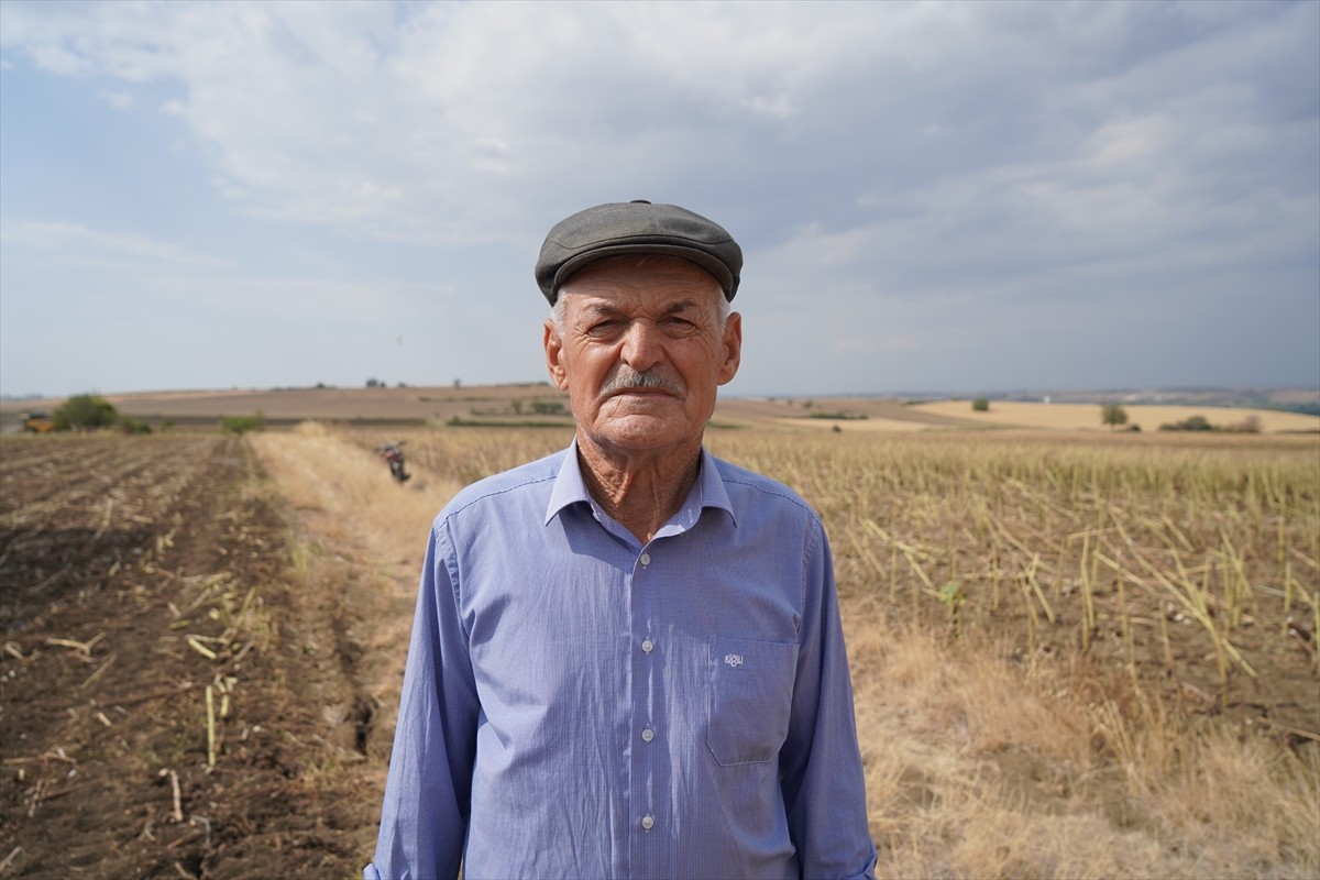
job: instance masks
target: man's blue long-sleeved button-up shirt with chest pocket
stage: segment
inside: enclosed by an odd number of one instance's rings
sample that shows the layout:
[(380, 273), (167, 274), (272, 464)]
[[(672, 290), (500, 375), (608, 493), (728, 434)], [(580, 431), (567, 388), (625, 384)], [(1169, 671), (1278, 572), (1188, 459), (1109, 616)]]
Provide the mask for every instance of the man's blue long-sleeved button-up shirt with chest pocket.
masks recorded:
[(643, 545), (576, 446), (432, 528), (378, 877), (861, 877), (874, 869), (829, 545), (702, 450)]

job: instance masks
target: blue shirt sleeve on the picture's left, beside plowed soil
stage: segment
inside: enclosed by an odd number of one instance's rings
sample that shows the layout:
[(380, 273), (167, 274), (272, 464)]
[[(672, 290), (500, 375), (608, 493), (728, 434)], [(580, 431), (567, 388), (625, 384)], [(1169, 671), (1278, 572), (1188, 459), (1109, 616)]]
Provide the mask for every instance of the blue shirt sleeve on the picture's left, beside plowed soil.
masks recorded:
[(445, 522), (426, 548), (376, 854), (366, 880), (457, 877), (480, 705), (458, 616)]

